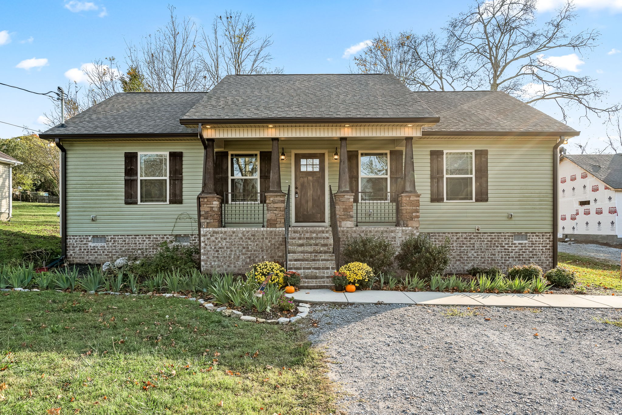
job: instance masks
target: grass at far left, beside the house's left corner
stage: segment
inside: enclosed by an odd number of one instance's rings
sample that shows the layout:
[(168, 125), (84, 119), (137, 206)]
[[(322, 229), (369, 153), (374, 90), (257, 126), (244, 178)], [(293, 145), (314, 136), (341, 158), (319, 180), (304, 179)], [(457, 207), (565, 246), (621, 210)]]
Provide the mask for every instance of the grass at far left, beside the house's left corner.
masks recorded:
[(0, 264), (41, 266), (60, 255), (58, 205), (13, 202), (13, 218), (0, 222)]

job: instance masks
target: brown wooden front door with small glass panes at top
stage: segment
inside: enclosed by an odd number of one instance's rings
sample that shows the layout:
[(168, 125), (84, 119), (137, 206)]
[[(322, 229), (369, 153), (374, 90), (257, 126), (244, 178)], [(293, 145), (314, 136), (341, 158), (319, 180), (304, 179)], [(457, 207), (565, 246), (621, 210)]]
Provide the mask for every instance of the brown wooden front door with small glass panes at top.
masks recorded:
[(294, 157), (295, 221), (326, 221), (324, 153), (296, 153)]

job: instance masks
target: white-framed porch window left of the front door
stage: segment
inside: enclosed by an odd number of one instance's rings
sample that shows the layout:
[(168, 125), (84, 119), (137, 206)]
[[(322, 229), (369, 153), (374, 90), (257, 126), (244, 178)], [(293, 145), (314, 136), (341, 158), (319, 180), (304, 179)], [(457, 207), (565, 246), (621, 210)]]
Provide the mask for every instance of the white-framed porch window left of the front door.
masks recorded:
[(259, 202), (259, 154), (231, 153), (230, 202)]

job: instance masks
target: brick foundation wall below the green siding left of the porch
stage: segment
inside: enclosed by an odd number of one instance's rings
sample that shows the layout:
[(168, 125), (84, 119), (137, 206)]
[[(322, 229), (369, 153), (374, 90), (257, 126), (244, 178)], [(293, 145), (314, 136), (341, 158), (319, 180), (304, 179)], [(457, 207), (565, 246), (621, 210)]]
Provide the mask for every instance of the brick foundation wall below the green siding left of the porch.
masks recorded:
[[(93, 236), (97, 235), (67, 236), (69, 263), (103, 264), (124, 256), (148, 256), (157, 252), (160, 243), (175, 242), (175, 235), (102, 235), (106, 245), (93, 245)], [(190, 243), (198, 243), (198, 236), (190, 235)]]

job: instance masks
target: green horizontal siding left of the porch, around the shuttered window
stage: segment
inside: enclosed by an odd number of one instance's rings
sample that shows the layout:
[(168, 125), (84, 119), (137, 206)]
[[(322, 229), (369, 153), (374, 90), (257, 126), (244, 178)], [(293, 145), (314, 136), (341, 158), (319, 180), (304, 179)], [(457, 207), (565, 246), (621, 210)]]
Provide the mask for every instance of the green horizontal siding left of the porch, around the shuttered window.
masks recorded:
[[(199, 141), (63, 142), (67, 235), (197, 233), (203, 147)], [(183, 204), (126, 205), (124, 152), (183, 152)], [(96, 215), (96, 221), (91, 221)], [(192, 218), (192, 220), (190, 219)]]

